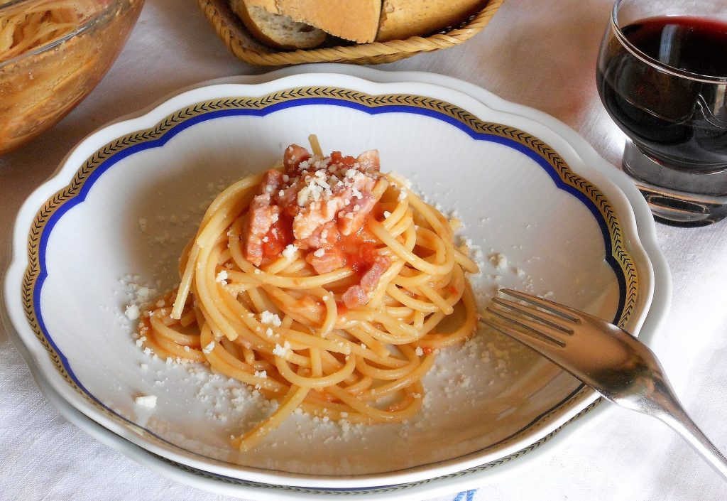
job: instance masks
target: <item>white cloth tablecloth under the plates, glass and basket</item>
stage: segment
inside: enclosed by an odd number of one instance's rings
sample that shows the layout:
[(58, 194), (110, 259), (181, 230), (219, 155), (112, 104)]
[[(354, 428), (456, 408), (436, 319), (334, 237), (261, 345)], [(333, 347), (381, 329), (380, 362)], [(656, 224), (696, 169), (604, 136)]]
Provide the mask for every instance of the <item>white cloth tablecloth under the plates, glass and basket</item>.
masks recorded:
[[(451, 50), (386, 70), (456, 76), (553, 114), (619, 165), (623, 136), (598, 100), (595, 58), (610, 0), (509, 0), (483, 33)], [(239, 62), (193, 0), (147, 0), (103, 82), (54, 129), (0, 157), (0, 267), (21, 202), (84, 135), (164, 95), (220, 76), (265, 71)], [(614, 167), (615, 168), (615, 167)], [(674, 280), (673, 306), (651, 346), (686, 409), (727, 450), (727, 223), (659, 225)], [(727, 499), (727, 483), (675, 433), (609, 404), (561, 432), (537, 460), (518, 459), (483, 481), (475, 500)], [(442, 498), (451, 500), (457, 495)], [(460, 494), (458, 501), (470, 494)], [(222, 500), (176, 484), (66, 422), (36, 388), (0, 331), (0, 500)]]

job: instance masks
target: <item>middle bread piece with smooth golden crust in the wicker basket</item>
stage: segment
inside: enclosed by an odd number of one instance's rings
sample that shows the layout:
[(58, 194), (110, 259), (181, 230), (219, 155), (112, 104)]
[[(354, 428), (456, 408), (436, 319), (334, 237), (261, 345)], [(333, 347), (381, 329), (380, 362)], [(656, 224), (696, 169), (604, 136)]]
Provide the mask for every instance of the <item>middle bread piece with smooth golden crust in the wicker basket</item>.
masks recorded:
[(374, 42), (381, 0), (245, 0), (248, 6), (292, 17), (342, 39)]

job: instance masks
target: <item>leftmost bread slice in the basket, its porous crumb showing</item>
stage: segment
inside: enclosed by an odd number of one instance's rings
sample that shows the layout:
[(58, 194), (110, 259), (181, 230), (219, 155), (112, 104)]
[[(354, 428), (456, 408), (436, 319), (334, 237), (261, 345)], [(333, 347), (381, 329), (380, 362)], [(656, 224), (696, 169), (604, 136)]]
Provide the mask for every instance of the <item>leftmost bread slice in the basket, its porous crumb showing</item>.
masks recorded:
[(326, 39), (326, 33), (286, 15), (273, 14), (260, 3), (275, 6), (274, 0), (230, 0), (230, 8), (252, 35), (265, 45), (278, 49), (312, 49)]

